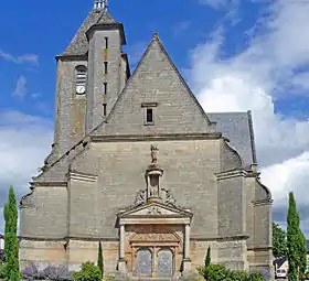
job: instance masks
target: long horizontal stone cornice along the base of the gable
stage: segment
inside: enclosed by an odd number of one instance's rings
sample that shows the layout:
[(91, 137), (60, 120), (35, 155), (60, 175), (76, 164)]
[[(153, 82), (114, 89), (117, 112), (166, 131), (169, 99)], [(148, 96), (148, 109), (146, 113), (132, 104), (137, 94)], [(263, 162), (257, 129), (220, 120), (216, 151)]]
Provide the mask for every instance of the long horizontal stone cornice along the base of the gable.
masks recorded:
[(169, 141), (169, 140), (217, 140), (221, 132), (179, 133), (179, 134), (122, 134), (122, 136), (90, 136), (92, 142), (131, 142), (131, 141)]

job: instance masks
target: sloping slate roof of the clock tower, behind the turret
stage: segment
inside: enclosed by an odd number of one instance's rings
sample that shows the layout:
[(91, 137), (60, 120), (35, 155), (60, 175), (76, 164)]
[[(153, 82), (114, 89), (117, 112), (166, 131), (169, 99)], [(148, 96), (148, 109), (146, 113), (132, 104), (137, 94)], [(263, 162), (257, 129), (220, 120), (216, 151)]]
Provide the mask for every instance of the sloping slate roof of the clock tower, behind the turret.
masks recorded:
[(88, 52), (88, 41), (86, 37), (86, 31), (95, 24), (119, 24), (111, 14), (106, 10), (92, 10), (83, 22), (82, 26), (73, 37), (72, 42), (62, 54), (62, 56), (68, 55), (85, 55)]

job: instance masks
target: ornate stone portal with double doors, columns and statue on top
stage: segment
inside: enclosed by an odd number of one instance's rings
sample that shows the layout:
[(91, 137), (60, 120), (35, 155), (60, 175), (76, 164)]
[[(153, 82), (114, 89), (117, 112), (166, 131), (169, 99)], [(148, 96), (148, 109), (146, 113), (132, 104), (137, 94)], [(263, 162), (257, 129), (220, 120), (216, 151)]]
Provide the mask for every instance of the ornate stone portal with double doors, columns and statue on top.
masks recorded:
[(118, 271), (131, 278), (172, 278), (191, 269), (190, 226), (192, 213), (178, 206), (172, 193), (161, 186), (163, 169), (158, 148), (151, 145), (146, 169), (146, 190), (137, 193), (135, 205), (118, 214)]

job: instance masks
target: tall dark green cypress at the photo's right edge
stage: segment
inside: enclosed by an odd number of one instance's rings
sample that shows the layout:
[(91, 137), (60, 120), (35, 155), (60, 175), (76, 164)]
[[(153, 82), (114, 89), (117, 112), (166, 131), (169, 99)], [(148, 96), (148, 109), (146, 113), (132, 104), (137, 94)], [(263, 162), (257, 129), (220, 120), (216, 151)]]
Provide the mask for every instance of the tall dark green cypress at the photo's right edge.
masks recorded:
[(289, 193), (287, 225), (288, 280), (297, 281), (306, 270), (307, 246), (306, 238), (300, 230), (300, 218), (292, 192)]

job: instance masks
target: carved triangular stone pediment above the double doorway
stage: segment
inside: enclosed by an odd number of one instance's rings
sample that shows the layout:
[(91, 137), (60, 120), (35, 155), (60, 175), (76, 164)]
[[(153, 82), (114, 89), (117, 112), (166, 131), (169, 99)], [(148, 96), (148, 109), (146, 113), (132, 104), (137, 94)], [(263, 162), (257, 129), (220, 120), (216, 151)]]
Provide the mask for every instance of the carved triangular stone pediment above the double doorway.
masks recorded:
[(160, 203), (150, 203), (125, 210), (118, 217), (191, 217), (188, 210)]

